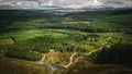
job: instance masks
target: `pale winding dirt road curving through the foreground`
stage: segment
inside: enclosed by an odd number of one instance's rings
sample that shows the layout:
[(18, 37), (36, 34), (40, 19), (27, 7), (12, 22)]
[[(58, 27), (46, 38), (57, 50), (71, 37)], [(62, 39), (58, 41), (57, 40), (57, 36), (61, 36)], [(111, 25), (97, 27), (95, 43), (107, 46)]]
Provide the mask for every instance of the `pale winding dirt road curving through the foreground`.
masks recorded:
[[(109, 37), (107, 40), (110, 40), (110, 39), (111, 39), (111, 37)], [(101, 50), (101, 49), (103, 49), (103, 47), (100, 47), (100, 48), (98, 48), (98, 49), (95, 49), (95, 50), (88, 52), (86, 55), (90, 55), (90, 54), (92, 54), (94, 52), (97, 52), (97, 51), (99, 51), (99, 50)], [(54, 74), (54, 71), (56, 71), (56, 70), (66, 70), (66, 69), (68, 69), (72, 64), (74, 64), (74, 58), (75, 58), (75, 55), (77, 55), (78, 53), (77, 53), (77, 52), (74, 52), (74, 53), (70, 55), (70, 58), (69, 58), (69, 63), (68, 63), (67, 65), (58, 65), (58, 64), (53, 64), (53, 63), (43, 63), (43, 61), (45, 60), (45, 54), (44, 54), (44, 53), (42, 53), (42, 54), (43, 54), (43, 58), (41, 59), (41, 61), (40, 61), (37, 64), (50, 67), (51, 71), (50, 71), (48, 74)], [(76, 60), (78, 60), (78, 59), (79, 59), (79, 58), (77, 58)]]

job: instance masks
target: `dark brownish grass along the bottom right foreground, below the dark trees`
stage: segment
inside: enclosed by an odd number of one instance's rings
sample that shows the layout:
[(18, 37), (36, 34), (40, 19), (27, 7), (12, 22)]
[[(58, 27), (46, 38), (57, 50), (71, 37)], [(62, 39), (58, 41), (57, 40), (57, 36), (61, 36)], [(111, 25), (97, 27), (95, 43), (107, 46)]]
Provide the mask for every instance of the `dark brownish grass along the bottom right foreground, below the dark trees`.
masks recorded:
[(64, 72), (63, 74), (131, 74), (132, 70), (129, 70), (121, 65), (114, 64), (101, 64), (101, 65), (76, 65)]

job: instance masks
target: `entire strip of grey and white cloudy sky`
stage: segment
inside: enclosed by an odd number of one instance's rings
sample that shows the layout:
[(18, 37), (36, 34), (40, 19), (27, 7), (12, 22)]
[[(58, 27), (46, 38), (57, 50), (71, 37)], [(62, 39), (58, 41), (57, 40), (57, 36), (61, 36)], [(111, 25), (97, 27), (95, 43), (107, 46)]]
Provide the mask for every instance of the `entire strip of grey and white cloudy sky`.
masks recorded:
[(132, 0), (0, 0), (0, 9), (3, 8), (132, 8)]

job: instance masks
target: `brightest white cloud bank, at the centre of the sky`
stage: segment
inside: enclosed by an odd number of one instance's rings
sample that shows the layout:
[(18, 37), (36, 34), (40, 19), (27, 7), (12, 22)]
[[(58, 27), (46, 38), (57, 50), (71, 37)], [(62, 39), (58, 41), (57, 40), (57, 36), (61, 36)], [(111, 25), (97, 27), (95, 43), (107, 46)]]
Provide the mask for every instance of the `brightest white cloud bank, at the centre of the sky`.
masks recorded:
[(85, 5), (100, 5), (98, 0), (48, 0), (42, 2), (41, 5), (57, 5), (66, 8), (82, 8)]

